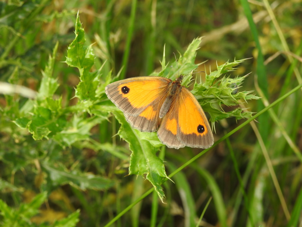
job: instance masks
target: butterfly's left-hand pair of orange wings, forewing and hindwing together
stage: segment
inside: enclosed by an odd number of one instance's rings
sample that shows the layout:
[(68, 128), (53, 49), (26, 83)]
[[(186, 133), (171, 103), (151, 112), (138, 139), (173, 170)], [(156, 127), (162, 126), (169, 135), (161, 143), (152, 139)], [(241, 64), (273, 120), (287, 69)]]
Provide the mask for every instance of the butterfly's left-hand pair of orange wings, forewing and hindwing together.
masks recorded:
[(159, 111), (170, 82), (165, 77), (134, 77), (109, 84), (105, 91), (133, 128), (154, 132), (161, 122)]

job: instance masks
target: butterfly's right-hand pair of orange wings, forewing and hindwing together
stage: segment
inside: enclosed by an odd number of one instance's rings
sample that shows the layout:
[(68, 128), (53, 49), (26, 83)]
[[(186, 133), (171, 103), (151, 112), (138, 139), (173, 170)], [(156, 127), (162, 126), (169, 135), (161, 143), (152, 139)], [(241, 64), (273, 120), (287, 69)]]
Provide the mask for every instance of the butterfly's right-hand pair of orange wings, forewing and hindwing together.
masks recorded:
[(169, 111), (157, 132), (163, 144), (172, 148), (184, 146), (208, 148), (214, 138), (200, 104), (185, 87), (178, 86)]

